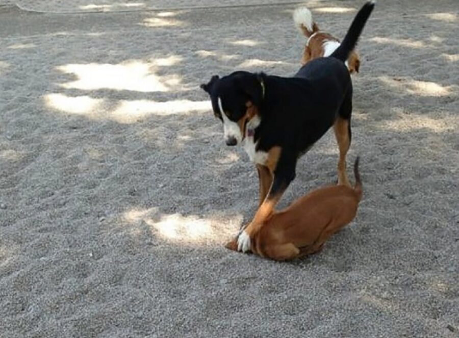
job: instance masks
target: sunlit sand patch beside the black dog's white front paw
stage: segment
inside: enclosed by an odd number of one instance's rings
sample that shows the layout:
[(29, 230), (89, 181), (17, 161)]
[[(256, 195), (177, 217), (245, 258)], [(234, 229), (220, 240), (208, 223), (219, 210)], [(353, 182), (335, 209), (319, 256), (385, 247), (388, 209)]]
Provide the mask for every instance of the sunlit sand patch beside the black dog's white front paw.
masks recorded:
[(242, 221), (242, 216), (228, 219), (203, 218), (196, 215), (184, 216), (180, 213), (164, 215), (156, 207), (144, 210), (131, 210), (124, 213), (124, 220), (130, 224), (144, 223), (154, 235), (163, 240), (181, 243), (220, 242), (235, 231), (235, 223)]

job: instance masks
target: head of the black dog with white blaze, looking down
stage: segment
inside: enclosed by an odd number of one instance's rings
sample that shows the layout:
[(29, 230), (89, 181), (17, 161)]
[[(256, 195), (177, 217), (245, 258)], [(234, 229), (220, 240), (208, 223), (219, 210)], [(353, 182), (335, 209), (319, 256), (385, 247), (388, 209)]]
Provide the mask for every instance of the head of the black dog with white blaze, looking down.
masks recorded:
[(244, 139), (248, 123), (253, 128), (260, 124), (258, 110), (265, 91), (263, 74), (237, 71), (221, 79), (214, 75), (201, 88), (210, 95), (214, 114), (223, 122), (227, 145), (236, 145)]

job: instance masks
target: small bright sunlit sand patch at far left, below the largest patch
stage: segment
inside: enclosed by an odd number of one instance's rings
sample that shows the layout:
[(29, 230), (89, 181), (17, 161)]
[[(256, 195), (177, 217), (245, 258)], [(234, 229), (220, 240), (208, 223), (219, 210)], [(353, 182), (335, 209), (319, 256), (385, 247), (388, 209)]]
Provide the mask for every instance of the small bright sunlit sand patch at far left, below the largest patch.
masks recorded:
[(69, 114), (91, 114), (104, 101), (89, 96), (71, 97), (64, 94), (46, 94), (43, 98), (47, 107)]

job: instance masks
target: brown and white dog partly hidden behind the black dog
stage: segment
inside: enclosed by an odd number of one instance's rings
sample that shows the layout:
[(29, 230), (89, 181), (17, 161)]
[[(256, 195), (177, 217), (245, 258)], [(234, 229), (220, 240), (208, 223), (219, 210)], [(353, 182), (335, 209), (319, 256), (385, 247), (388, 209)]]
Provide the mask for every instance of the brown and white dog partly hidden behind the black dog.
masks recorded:
[[(299, 7), (295, 9), (293, 21), (307, 38), (301, 58), (302, 65), (317, 58), (330, 56), (340, 45), (340, 40), (319, 30), (319, 26), (313, 21), (311, 11), (308, 8)], [(359, 54), (352, 50), (345, 64), (349, 73), (358, 73), (360, 68)]]

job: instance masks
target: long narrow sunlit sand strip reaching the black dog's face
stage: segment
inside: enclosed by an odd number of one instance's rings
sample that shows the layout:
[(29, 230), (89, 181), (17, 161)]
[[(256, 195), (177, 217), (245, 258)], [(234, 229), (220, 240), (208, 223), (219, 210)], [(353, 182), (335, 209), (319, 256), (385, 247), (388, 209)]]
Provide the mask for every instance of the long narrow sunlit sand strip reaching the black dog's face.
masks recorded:
[(111, 114), (111, 118), (121, 123), (135, 122), (148, 115), (188, 114), (211, 110), (209, 101), (171, 100), (157, 102), (152, 100), (121, 100)]

